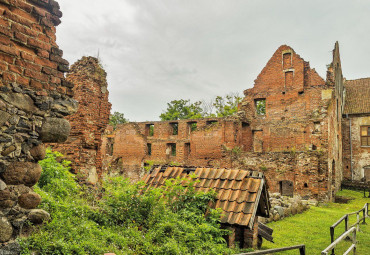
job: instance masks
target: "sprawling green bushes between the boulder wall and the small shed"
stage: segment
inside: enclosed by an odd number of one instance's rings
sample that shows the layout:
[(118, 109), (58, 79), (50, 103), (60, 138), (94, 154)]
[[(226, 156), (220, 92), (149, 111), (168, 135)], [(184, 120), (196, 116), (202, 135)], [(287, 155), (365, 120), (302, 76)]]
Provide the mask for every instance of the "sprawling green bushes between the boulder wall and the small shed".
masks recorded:
[[(40, 162), (42, 177), (35, 187), (40, 208), (51, 221), (20, 239), (22, 254), (230, 254), (220, 228), (220, 211), (208, 204), (214, 193), (196, 192), (189, 183), (167, 181), (146, 190), (116, 177), (102, 184), (101, 199), (92, 199), (60, 154), (48, 151)], [(145, 192), (144, 192), (145, 191)]]

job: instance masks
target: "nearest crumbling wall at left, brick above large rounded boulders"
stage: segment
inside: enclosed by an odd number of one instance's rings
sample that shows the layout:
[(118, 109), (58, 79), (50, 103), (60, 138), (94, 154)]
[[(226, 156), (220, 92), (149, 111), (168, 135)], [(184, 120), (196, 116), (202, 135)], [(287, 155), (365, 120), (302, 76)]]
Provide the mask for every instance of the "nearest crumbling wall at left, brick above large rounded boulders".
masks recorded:
[(16, 254), (13, 241), (41, 201), (32, 186), (40, 178), (43, 143), (67, 139), (63, 117), (77, 102), (56, 44), (58, 3), (2, 0), (0, 13), (0, 253)]

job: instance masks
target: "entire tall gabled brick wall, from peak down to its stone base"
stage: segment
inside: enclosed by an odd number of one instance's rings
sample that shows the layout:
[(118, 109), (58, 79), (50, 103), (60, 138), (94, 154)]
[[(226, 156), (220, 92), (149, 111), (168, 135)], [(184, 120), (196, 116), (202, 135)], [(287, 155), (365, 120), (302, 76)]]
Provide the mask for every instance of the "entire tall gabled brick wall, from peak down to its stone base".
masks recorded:
[[(291, 169), (279, 165), (268, 168), (266, 176), (273, 191), (279, 191), (279, 185), (289, 184), (294, 194), (330, 199), (332, 184), (339, 187), (332, 177), (335, 173), (331, 165), (335, 162), (337, 169), (341, 169), (340, 162), (335, 160), (338, 156), (334, 155), (341, 150), (337, 125), (340, 112), (334, 104), (340, 92), (335, 86), (338, 78), (329, 76), (326, 82), (310, 68), (309, 62), (283, 45), (261, 71), (254, 87), (244, 92), (239, 115), (250, 124), (252, 132), (252, 146), (250, 153), (244, 155), (244, 163), (249, 167), (251, 164), (265, 167), (271, 159), (280, 162), (281, 153), (299, 155), (308, 162), (304, 166), (295, 157), (282, 157), (284, 165), (291, 164)], [(265, 104), (264, 112), (258, 109), (261, 101)], [(253, 153), (260, 153), (263, 160)], [(298, 183), (300, 178), (306, 182)]]

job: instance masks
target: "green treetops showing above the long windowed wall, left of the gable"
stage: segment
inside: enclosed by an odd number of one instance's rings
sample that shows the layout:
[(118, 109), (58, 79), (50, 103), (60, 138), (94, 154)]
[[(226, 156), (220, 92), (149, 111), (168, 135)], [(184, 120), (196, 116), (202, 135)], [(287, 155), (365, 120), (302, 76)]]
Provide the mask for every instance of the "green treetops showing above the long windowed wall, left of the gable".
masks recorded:
[(232, 116), (238, 111), (242, 98), (238, 93), (216, 96), (211, 100), (196, 101), (190, 99), (173, 100), (159, 117), (161, 120), (199, 119)]

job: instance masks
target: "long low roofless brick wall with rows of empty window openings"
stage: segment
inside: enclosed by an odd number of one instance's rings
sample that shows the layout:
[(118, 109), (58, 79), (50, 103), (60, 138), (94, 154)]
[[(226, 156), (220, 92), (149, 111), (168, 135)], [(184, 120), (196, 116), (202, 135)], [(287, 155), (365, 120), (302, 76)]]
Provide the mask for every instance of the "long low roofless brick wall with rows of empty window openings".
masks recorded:
[(138, 180), (145, 162), (228, 167), (231, 165), (229, 154), (242, 150), (242, 140), (247, 139), (245, 134), (243, 136), (246, 128), (247, 125), (235, 118), (119, 125), (104, 136), (103, 155), (108, 159), (104, 169), (107, 172), (114, 169)]

